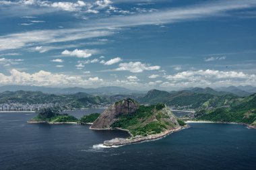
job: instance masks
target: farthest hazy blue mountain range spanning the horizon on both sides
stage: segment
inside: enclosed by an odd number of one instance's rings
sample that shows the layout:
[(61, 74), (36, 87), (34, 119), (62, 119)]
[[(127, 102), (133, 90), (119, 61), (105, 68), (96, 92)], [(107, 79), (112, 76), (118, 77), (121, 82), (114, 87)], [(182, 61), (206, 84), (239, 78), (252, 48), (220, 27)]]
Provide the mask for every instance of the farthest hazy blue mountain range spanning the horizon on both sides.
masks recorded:
[[(88, 93), (91, 95), (129, 95), (129, 94), (145, 94), (147, 91), (137, 91), (127, 89), (125, 87), (98, 87), (98, 88), (83, 88), (83, 87), (67, 87), (67, 88), (57, 88), (57, 87), (38, 87), (38, 86), (26, 86), (26, 85), (5, 85), (0, 87), (0, 93), (4, 91), (41, 91), (43, 93), (50, 94), (75, 94), (75, 93)], [(191, 87), (181, 91), (191, 91), (193, 93), (205, 93), (212, 95), (226, 95), (233, 93), (240, 97), (246, 97), (253, 93), (256, 93), (256, 87), (247, 86), (230, 86), (230, 87), (218, 87), (212, 89), (210, 87), (200, 88)], [(168, 93), (168, 92), (167, 92)], [(170, 91), (170, 93), (177, 93), (177, 91)]]

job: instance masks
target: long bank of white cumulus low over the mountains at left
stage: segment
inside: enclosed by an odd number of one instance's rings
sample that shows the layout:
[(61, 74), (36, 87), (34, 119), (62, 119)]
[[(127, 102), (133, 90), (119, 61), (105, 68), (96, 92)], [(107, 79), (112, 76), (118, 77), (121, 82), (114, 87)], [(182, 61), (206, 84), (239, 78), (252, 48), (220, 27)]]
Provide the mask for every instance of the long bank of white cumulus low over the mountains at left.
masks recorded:
[(11, 69), (10, 75), (0, 73), (0, 85), (38, 85), (38, 86), (84, 86), (93, 85), (103, 81), (99, 77), (85, 77), (78, 75), (65, 75), (62, 73), (51, 73), (48, 71), (38, 71), (36, 73), (21, 72)]

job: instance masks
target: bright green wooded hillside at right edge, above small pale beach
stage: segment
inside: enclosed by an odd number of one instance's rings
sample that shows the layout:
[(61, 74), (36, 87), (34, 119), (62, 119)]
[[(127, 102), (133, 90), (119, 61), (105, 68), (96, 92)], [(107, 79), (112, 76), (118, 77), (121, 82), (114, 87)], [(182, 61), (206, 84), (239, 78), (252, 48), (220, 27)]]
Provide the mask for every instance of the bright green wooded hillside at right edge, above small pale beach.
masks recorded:
[(254, 124), (256, 121), (256, 94), (234, 101), (230, 107), (200, 110), (196, 113), (196, 119)]

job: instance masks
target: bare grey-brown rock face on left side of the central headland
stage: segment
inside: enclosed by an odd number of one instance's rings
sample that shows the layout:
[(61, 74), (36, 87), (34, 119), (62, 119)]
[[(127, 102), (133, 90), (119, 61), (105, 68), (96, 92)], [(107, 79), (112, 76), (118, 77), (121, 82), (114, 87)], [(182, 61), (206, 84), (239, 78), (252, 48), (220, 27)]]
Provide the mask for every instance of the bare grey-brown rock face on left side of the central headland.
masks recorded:
[(133, 114), (137, 108), (139, 108), (139, 103), (133, 99), (117, 101), (98, 117), (98, 119), (92, 124), (91, 128), (110, 128), (110, 125), (117, 121), (119, 116)]

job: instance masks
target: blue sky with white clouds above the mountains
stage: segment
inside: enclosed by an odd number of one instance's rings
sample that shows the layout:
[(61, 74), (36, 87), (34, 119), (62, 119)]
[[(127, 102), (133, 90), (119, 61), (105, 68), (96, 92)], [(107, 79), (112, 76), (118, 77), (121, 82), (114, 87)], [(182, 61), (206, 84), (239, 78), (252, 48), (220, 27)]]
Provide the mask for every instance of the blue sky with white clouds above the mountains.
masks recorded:
[(256, 0), (0, 0), (0, 86), (256, 84)]

